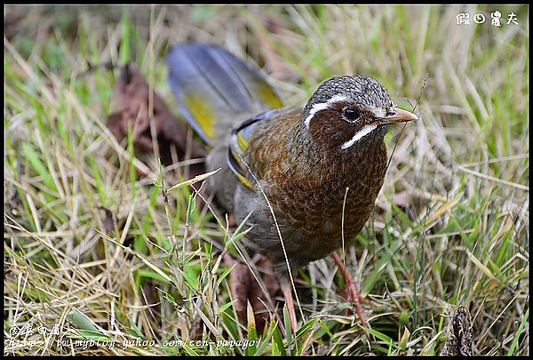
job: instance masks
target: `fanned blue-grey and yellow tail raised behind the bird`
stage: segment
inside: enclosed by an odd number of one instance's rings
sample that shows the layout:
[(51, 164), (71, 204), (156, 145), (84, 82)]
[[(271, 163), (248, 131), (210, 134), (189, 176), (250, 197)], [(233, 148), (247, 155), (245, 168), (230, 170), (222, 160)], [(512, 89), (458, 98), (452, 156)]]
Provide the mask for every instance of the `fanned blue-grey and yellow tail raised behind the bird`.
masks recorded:
[(178, 45), (166, 60), (181, 112), (210, 145), (225, 139), (243, 118), (282, 108), (266, 76), (218, 46)]

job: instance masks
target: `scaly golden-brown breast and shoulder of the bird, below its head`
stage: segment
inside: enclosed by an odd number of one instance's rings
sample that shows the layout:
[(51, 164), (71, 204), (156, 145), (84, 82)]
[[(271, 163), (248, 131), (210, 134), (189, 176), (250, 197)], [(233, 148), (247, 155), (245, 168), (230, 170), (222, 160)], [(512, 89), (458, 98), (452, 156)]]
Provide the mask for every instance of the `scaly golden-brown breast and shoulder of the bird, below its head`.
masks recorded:
[[(349, 244), (369, 219), (383, 185), (386, 146), (381, 141), (365, 151), (336, 156), (294, 147), (291, 137), (298, 131), (299, 116), (299, 111), (290, 111), (258, 129), (251, 138), (246, 161), (262, 183), (278, 226), (282, 227), (288, 256), (296, 263), (306, 263), (322, 259), (342, 246), (343, 231), (344, 241)], [(270, 134), (282, 134), (282, 139), (270, 139)], [(290, 154), (295, 148), (307, 152)], [(272, 221), (271, 216), (268, 218)], [(266, 226), (254, 224), (253, 217), (251, 224)], [(273, 252), (280, 252), (274, 258), (281, 258), (279, 241), (278, 238), (277, 247), (272, 244), (275, 240), (256, 242), (259, 244), (253, 247), (271, 258)]]

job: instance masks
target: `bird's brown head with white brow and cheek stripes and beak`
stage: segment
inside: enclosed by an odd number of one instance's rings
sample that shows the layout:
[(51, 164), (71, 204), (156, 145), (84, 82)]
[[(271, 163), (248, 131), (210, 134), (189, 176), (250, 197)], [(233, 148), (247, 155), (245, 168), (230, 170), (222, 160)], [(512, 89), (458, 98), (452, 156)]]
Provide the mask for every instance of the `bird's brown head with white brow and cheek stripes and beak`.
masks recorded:
[(315, 145), (332, 151), (363, 150), (383, 141), (390, 124), (417, 120), (396, 108), (385, 88), (367, 76), (324, 81), (304, 108), (301, 121)]

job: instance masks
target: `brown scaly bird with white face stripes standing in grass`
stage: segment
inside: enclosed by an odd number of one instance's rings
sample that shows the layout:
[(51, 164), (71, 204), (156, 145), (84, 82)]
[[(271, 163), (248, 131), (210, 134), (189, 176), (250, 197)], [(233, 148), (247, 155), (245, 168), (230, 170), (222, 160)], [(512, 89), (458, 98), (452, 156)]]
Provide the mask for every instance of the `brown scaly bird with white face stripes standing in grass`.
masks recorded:
[[(386, 132), (418, 120), (370, 76), (334, 76), (303, 107), (286, 107), (259, 67), (218, 45), (176, 44), (166, 56), (179, 111), (211, 147), (207, 187), (237, 223), (243, 243), (274, 265), (294, 331), (292, 276), (332, 256), (350, 300), (368, 322), (338, 250), (370, 218), (387, 168)], [(366, 300), (368, 302), (368, 300)]]

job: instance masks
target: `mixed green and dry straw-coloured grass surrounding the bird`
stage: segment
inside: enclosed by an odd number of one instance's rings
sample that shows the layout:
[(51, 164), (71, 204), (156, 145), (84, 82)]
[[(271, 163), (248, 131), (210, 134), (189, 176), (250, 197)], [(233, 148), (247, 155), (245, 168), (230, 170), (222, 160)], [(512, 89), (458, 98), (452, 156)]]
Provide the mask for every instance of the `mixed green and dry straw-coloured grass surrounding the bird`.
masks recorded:
[[(529, 354), (527, 6), (6, 9), (20, 19), (4, 43), (4, 354), (438, 354), (460, 304), (474, 354)], [(495, 9), (520, 25), (455, 24)], [(283, 308), (262, 333), (240, 324), (219, 244), (245, 255), (246, 227), (107, 131), (117, 70), (89, 64), (133, 62), (175, 109), (163, 57), (187, 40), (257, 63), (292, 106), (358, 73), (409, 108), (427, 76), (421, 120), (386, 137), (385, 185), (346, 249), (380, 304), (365, 308), (371, 329), (346, 312), (330, 259), (299, 269), (297, 332)], [(13, 330), (28, 324), (49, 332)], [(206, 343), (168, 342), (186, 339)]]

